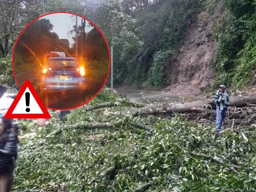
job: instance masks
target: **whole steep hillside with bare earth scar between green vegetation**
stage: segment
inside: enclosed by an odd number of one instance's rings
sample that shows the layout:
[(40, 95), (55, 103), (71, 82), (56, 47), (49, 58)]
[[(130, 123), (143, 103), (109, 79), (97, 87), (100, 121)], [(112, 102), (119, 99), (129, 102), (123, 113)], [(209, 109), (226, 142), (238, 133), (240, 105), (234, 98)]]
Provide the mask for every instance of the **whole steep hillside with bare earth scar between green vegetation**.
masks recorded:
[[(115, 85), (194, 95), (220, 84), (255, 85), (255, 0), (182, 2), (153, 3), (144, 16), (132, 14), (140, 45), (122, 47)], [(132, 60), (123, 57), (127, 51)]]

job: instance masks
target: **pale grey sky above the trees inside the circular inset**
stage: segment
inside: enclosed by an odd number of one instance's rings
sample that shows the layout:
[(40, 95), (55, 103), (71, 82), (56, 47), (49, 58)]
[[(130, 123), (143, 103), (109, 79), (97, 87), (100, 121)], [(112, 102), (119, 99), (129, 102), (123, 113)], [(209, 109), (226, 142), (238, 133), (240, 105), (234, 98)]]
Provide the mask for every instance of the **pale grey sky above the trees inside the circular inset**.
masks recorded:
[[(55, 32), (60, 39), (68, 39), (70, 43), (70, 47), (74, 43), (72, 36), (74, 34), (68, 34), (68, 31), (73, 28), (75, 25), (75, 15), (68, 14), (68, 13), (54, 13), (50, 15), (46, 15), (41, 17), (41, 19), (49, 19), (50, 22), (53, 24), (52, 32)], [(81, 25), (82, 17), (78, 16), (78, 26)], [(92, 27), (88, 27), (88, 21), (86, 21), (85, 32), (89, 32)]]

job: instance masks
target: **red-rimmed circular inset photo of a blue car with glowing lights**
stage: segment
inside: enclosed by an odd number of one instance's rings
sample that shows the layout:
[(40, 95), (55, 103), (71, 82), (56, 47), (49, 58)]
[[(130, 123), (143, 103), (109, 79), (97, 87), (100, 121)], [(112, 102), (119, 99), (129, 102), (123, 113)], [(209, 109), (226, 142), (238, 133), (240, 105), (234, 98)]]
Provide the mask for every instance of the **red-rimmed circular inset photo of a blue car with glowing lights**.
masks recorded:
[(20, 87), (29, 80), (47, 108), (72, 109), (105, 85), (110, 53), (92, 22), (72, 13), (51, 13), (21, 32), (12, 62)]

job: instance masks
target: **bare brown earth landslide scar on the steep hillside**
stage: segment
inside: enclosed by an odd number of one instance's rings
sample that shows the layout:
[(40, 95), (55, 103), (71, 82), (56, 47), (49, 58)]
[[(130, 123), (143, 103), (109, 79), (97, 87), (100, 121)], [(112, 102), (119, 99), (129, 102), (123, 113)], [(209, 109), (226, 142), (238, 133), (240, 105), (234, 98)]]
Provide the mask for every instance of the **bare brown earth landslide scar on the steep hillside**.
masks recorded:
[(168, 86), (165, 91), (199, 95), (213, 86), (213, 66), (217, 42), (213, 28), (223, 15), (222, 1), (211, 14), (204, 8), (190, 24), (183, 43), (166, 65)]

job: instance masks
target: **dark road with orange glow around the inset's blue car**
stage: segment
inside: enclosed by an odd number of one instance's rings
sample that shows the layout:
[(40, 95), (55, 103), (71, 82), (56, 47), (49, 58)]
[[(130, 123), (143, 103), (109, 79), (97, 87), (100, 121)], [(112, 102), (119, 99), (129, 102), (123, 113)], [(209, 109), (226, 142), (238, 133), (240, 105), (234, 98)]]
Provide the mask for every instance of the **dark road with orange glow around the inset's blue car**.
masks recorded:
[(93, 79), (86, 78), (87, 85), (84, 92), (62, 91), (40, 95), (39, 84), (41, 76), (41, 70), (30, 70), (17, 74), (16, 78), (20, 86), (22, 86), (26, 80), (29, 80), (43, 104), (46, 107), (53, 109), (69, 109), (81, 106), (92, 99), (103, 85), (103, 82), (96, 83)]

